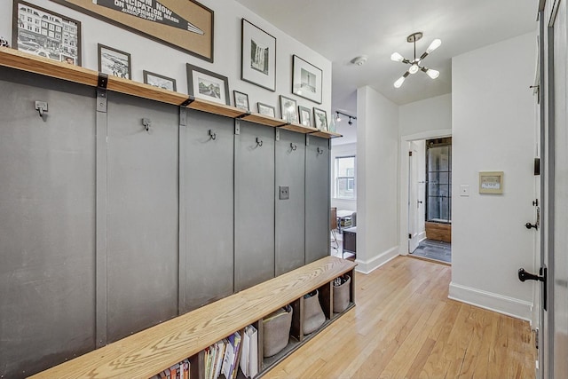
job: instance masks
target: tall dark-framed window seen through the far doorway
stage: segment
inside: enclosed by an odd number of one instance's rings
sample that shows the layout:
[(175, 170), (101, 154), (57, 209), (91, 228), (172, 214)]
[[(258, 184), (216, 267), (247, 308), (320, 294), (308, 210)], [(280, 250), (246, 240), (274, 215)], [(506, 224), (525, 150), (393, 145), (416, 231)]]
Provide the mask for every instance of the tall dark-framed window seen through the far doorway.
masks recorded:
[(452, 138), (426, 141), (426, 221), (452, 222)]

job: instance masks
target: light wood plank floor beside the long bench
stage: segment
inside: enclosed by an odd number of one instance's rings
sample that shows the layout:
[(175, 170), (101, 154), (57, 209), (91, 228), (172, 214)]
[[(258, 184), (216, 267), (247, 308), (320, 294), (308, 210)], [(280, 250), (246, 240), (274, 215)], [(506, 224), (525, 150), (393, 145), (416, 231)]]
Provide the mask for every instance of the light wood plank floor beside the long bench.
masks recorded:
[(528, 322), (447, 298), (451, 267), (397, 257), (356, 304), (264, 378), (534, 378)]

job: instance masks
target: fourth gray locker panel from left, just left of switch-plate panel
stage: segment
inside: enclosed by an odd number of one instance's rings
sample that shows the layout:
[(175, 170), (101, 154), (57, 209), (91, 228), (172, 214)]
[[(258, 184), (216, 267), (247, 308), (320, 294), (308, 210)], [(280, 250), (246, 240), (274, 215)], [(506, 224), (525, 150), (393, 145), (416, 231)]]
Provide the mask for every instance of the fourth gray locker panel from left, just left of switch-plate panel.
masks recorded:
[(234, 289), (274, 277), (274, 130), (236, 122)]

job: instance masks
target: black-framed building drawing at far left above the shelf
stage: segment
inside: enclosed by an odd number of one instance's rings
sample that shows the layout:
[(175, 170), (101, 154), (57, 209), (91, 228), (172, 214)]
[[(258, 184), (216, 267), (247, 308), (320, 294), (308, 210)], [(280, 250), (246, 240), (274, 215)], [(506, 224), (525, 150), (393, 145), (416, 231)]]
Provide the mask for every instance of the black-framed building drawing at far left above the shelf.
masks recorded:
[(12, 10), (15, 49), (81, 66), (81, 22), (21, 0)]

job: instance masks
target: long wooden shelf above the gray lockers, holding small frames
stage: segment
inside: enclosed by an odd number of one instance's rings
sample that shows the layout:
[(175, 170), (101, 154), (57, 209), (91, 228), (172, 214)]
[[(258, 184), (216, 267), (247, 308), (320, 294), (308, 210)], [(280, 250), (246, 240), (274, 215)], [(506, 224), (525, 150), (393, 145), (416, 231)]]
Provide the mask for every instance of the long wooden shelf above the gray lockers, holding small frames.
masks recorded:
[[(8, 47), (0, 47), (0, 66), (11, 67), (21, 71), (51, 76), (68, 82), (80, 83), (91, 87), (99, 86), (99, 72), (88, 68), (57, 62), (52, 59), (38, 57), (23, 51), (17, 51)], [(108, 75), (106, 81), (108, 91), (120, 92), (142, 99), (151, 99), (176, 106), (185, 105), (210, 114), (218, 114), (225, 117), (240, 118), (249, 122), (255, 122), (273, 128), (292, 130), (298, 133), (311, 134), (320, 138), (338, 138), (341, 134), (318, 130), (297, 123), (288, 123), (264, 114), (250, 113), (237, 107), (218, 104), (205, 99), (193, 98), (183, 93), (163, 90), (145, 83), (134, 82), (129, 79)]]

